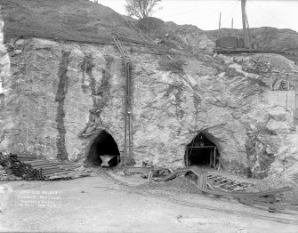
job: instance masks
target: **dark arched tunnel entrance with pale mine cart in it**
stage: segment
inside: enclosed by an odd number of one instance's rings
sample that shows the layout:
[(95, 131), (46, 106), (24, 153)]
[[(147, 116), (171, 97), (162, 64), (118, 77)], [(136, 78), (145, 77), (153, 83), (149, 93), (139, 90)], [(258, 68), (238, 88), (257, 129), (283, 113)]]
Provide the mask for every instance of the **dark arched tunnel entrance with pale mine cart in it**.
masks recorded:
[(116, 141), (109, 133), (101, 131), (91, 144), (86, 162), (89, 165), (99, 166), (105, 162), (101, 158), (106, 160), (107, 157), (112, 157), (109, 160), (109, 166), (115, 166), (120, 162), (120, 152)]

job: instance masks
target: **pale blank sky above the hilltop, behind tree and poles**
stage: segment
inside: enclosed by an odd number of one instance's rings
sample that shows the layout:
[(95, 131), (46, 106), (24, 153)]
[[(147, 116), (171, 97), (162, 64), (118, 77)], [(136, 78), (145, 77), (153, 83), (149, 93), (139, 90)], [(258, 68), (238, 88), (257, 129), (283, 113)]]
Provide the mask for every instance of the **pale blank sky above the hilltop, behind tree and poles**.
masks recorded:
[[(126, 14), (125, 0), (99, 0), (114, 11)], [(162, 0), (162, 9), (153, 14), (165, 21), (192, 24), (203, 30), (242, 28), (240, 0)], [(298, 0), (247, 0), (246, 13), (250, 28), (291, 28), (298, 31)]]

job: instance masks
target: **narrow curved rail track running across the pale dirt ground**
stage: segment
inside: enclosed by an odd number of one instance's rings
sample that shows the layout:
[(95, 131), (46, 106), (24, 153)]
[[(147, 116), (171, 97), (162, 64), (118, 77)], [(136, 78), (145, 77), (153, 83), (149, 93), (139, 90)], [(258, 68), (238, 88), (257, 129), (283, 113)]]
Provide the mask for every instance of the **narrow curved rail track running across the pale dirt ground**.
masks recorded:
[[(167, 202), (171, 202), (173, 204), (189, 206), (189, 207), (193, 207), (193, 208), (201, 208), (201, 209), (220, 212), (220, 213), (238, 214), (238, 216), (242, 216), (242, 217), (250, 217), (253, 219), (261, 219), (261, 220), (274, 221), (274, 222), (279, 222), (279, 223), (284, 223), (284, 224), (298, 225), (298, 220), (290, 220), (290, 219), (286, 219), (286, 218), (268, 216), (268, 215), (258, 214), (258, 213), (247, 213), (247, 212), (243, 212), (243, 211), (226, 210), (226, 209), (222, 209), (222, 208), (213, 207), (210, 205), (197, 204), (195, 202), (190, 202), (187, 200), (183, 200), (181, 198), (174, 198), (174, 197), (169, 197), (166, 195), (152, 193), (152, 192), (149, 192), (149, 191), (146, 191), (143, 189), (133, 187), (123, 181), (118, 181), (116, 178), (112, 177), (107, 171), (102, 171), (102, 173), (99, 173), (99, 174), (102, 174), (103, 176), (107, 177), (109, 180), (114, 181), (122, 186), (125, 186), (128, 189), (132, 189), (135, 193), (137, 193), (141, 196), (158, 197), (160, 199), (163, 199)], [(271, 214), (274, 214), (274, 213), (271, 213)]]

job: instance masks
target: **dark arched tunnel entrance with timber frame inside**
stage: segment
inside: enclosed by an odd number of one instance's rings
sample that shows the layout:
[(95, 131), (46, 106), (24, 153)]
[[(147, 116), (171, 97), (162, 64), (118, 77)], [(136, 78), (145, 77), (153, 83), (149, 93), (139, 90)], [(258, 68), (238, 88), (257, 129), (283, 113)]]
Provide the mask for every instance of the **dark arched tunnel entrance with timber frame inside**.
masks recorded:
[(216, 168), (219, 165), (219, 152), (216, 145), (208, 140), (203, 133), (190, 141), (185, 149), (186, 166), (197, 165)]

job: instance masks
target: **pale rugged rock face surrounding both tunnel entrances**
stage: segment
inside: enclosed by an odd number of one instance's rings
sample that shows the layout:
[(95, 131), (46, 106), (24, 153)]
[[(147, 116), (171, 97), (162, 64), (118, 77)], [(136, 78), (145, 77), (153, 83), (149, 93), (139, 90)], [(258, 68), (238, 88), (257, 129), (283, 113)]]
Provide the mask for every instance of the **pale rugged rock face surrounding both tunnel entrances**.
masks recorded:
[[(264, 88), (235, 63), (130, 57), (137, 164), (183, 166), (186, 145), (203, 133), (224, 168), (259, 178), (297, 173), (290, 112), (266, 103)], [(1, 44), (0, 65), (0, 150), (83, 162), (104, 130), (123, 153), (125, 79), (116, 47), (19, 39)]]

